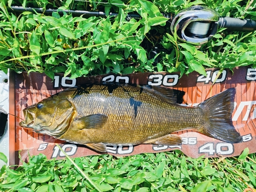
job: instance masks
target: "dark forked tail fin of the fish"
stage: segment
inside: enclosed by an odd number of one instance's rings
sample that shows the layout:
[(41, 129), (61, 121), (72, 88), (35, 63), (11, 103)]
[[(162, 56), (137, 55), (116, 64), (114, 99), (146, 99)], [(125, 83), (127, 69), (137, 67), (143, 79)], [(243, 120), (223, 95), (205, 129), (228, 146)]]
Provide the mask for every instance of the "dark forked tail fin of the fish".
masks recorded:
[(232, 124), (232, 112), (234, 109), (234, 88), (225, 90), (204, 102), (197, 107), (203, 109), (207, 116), (200, 132), (215, 139), (228, 143), (242, 142), (242, 137)]

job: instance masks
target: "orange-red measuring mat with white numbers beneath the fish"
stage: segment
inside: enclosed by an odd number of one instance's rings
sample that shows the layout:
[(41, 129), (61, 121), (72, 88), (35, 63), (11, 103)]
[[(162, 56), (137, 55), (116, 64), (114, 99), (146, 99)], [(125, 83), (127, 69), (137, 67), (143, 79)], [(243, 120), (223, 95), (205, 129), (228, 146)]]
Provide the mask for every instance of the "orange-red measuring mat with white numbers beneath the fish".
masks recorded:
[[(162, 91), (163, 96), (161, 96), (161, 98), (166, 99), (166, 102), (174, 102), (173, 96), (167, 94), (168, 89), (179, 90), (182, 91), (181, 97), (183, 96), (183, 100), (180, 97), (176, 98), (176, 100), (178, 103), (183, 101), (181, 103), (183, 106), (196, 106), (200, 103), (202, 103), (201, 105), (210, 105), (209, 102), (207, 103), (208, 100), (206, 99), (230, 88), (234, 88), (236, 91), (234, 97), (232, 96), (232, 90), (234, 89), (230, 89), (231, 91), (229, 91), (229, 94), (231, 94), (230, 96), (233, 97), (231, 98), (233, 99), (233, 102), (230, 106), (234, 106), (232, 107), (234, 109), (220, 109), (220, 106), (216, 106), (216, 109), (214, 110), (215, 112), (212, 112), (212, 114), (218, 116), (218, 110), (231, 110), (232, 118), (229, 124), (231, 127), (234, 126), (237, 131), (234, 135), (235, 137), (237, 136), (237, 140), (236, 138), (233, 138), (233, 141), (238, 141), (240, 143), (224, 142), (219, 139), (208, 137), (205, 133), (201, 134), (200, 131), (193, 131), (189, 129), (172, 133), (177, 134), (181, 138), (182, 143), (180, 145), (106, 145), (107, 152), (103, 153), (109, 153), (115, 156), (129, 156), (139, 153), (157, 153), (178, 149), (187, 156), (195, 158), (201, 155), (205, 155), (205, 157), (231, 157), (240, 155), (246, 147), (249, 148), (250, 153), (254, 153), (256, 152), (256, 95), (254, 91), (256, 70), (246, 67), (236, 68), (233, 70), (233, 73), (229, 70), (223, 70), (216, 80), (219, 72), (220, 71), (218, 69), (207, 69), (207, 76), (193, 72), (188, 76), (182, 76), (181, 78), (179, 73), (139, 73), (123, 76), (107, 74), (80, 77), (76, 79), (63, 77), (62, 74), (55, 74), (54, 81), (44, 74), (15, 74), (15, 115), (24, 119), (22, 110), (41, 101), (42, 99), (59, 93), (69, 87), (80, 86), (82, 84), (100, 83), (102, 81), (140, 84), (144, 85), (145, 88), (148, 89), (150, 89), (151, 86), (161, 86), (164, 87), (163, 90), (165, 90)], [(216, 82), (213, 83), (215, 80)], [(109, 90), (107, 90), (110, 94), (113, 94), (111, 92), (116, 89), (115, 86), (112, 88), (113, 89), (109, 88)], [(139, 91), (141, 92), (142, 90)], [(82, 94), (82, 91), (80, 92), (80, 94)], [(218, 99), (219, 97), (216, 98)], [(129, 105), (133, 108), (134, 114), (137, 117), (141, 102), (130, 97)], [(152, 114), (152, 116), (153, 115), (154, 114)], [(95, 148), (95, 145), (88, 145), (90, 146), (88, 147), (85, 145), (61, 141), (52, 136), (38, 134), (31, 130), (23, 129), (23, 127), (19, 126), (19, 123), (20, 119), (16, 118), (15, 151), (16, 153), (18, 153), (18, 151), (20, 152), (20, 156), (23, 160), (26, 160), (28, 154), (37, 155), (39, 153), (45, 154), (48, 158), (65, 157), (65, 155), (59, 151), (59, 148), (55, 143), (60, 143), (62, 149), (72, 157), (102, 154), (101, 152), (97, 152), (90, 148)], [(218, 123), (221, 124), (222, 121), (220, 120)], [(217, 129), (218, 127), (213, 128)], [(118, 127), (116, 127), (116, 129), (118, 129)], [(221, 134), (224, 133), (221, 131), (218, 134), (221, 136)], [(127, 135), (129, 135), (129, 133), (127, 133)], [(241, 135), (241, 138), (239, 138), (239, 135)], [(230, 138), (234, 136), (230, 135)], [(18, 158), (16, 159), (16, 163), (20, 163)]]

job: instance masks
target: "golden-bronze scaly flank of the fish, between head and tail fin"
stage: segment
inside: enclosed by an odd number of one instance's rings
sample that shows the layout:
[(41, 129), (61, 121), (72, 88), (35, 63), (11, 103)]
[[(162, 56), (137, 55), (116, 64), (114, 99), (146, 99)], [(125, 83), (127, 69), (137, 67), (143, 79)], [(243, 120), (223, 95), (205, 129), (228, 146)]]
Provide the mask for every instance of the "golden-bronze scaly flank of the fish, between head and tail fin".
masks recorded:
[[(91, 114), (108, 116), (108, 121), (102, 129), (87, 130), (91, 132), (89, 135), (98, 135), (97, 138), (90, 140), (92, 143), (138, 144), (153, 136), (157, 138), (182, 128), (198, 127), (202, 123), (203, 116), (200, 109), (181, 108), (179, 105), (163, 103), (143, 91), (140, 93), (137, 87), (129, 87), (130, 89), (125, 90), (127, 92), (123, 91), (122, 87), (118, 87), (113, 93), (109, 93), (107, 89), (99, 92), (100, 89), (97, 87), (99, 86), (93, 86), (89, 93), (75, 96), (71, 100), (75, 106), (80, 106), (76, 109), (79, 114), (77, 118)], [(136, 117), (135, 106), (130, 104), (131, 98), (141, 102), (137, 107)], [(68, 134), (69, 132), (62, 137), (69, 137)]]

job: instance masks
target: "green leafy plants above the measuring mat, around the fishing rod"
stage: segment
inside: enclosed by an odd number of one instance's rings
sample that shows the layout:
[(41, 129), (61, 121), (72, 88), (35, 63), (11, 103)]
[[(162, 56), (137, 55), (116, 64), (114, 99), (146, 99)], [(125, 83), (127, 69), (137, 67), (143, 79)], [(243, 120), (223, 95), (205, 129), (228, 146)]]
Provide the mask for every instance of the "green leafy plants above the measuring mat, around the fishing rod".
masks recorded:
[[(71, 75), (180, 71), (204, 68), (232, 69), (255, 66), (255, 32), (220, 32), (206, 45), (177, 42), (161, 12), (177, 13), (193, 5), (206, 5), (223, 16), (256, 20), (255, 1), (2, 1), (0, 3), (0, 69), (55, 72)], [(15, 12), (8, 6), (104, 11), (106, 18), (54, 12), (52, 15)], [(141, 19), (127, 19), (139, 13)], [(153, 51), (153, 52), (152, 52)], [(153, 55), (151, 53), (154, 53)]]

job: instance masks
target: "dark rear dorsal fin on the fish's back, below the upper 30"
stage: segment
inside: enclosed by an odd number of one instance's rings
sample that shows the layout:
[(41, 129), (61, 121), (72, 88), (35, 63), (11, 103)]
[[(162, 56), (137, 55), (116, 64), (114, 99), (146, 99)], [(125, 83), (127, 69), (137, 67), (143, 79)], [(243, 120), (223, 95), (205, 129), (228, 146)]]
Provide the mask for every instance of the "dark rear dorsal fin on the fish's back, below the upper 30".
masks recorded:
[(168, 89), (160, 86), (142, 86), (141, 88), (145, 92), (148, 92), (158, 99), (168, 103), (181, 104), (183, 102), (183, 96), (185, 95), (184, 91)]

